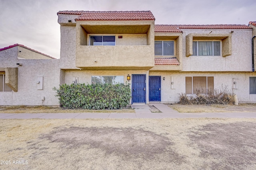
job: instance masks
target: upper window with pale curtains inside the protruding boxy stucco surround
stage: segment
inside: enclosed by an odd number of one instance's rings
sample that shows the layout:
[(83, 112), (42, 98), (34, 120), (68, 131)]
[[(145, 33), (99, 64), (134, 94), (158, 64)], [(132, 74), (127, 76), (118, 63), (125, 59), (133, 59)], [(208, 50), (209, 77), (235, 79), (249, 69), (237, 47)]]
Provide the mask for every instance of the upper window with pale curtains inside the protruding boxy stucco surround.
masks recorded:
[(220, 42), (193, 42), (193, 55), (220, 55)]

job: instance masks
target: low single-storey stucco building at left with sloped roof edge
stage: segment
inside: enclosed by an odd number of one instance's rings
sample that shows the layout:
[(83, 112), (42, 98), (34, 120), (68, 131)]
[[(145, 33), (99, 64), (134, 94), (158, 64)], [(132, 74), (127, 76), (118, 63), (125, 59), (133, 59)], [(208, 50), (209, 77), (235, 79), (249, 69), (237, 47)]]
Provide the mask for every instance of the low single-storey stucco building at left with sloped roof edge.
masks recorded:
[(58, 65), (59, 59), (24, 45), (0, 49), (0, 105), (58, 105), (52, 90), (60, 84)]

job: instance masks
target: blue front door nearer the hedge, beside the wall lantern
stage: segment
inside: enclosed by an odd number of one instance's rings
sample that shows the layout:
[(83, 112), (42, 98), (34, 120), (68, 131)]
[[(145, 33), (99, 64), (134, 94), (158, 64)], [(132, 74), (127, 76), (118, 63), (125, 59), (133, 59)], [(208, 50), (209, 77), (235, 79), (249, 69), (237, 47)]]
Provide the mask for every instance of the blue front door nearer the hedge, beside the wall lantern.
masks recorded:
[(132, 103), (146, 103), (146, 75), (132, 75)]

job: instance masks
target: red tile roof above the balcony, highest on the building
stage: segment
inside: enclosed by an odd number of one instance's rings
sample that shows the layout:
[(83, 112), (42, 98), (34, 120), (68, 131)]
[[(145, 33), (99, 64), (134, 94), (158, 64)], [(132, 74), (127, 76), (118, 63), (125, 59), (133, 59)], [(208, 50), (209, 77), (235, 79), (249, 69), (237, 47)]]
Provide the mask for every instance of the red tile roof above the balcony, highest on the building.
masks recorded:
[(76, 20), (155, 20), (150, 11), (59, 11), (80, 15)]

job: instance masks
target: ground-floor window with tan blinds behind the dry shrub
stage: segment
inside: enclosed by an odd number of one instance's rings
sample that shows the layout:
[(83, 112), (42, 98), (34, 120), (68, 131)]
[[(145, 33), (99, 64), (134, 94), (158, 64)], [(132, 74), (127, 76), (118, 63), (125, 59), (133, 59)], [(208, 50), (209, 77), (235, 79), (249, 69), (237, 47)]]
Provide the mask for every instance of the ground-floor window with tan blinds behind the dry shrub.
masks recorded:
[(186, 94), (207, 93), (214, 90), (213, 77), (186, 77)]

